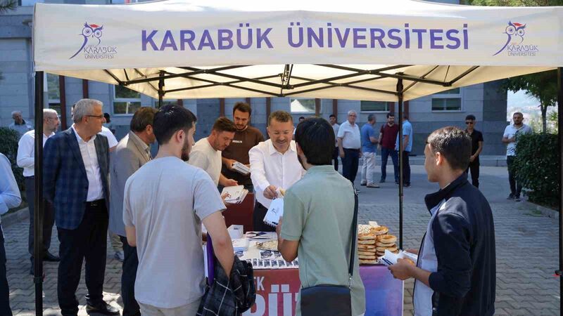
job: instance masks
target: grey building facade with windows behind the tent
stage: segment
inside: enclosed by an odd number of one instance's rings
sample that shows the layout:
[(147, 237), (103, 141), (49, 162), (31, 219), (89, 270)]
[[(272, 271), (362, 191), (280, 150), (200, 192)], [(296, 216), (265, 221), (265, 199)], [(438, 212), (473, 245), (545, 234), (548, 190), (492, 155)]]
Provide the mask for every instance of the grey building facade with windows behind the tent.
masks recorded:
[[(116, 4), (124, 0), (46, 0), (49, 3), (65, 4)], [(125, 0), (128, 1), (128, 0)], [(34, 119), (34, 72), (32, 65), (32, 5), (35, 0), (20, 0), (20, 6), (13, 11), (0, 14), (0, 126), (12, 122), (11, 112), (20, 110), (24, 119), (32, 124)], [(455, 1), (441, 1), (455, 3)], [(70, 105), (80, 98), (95, 98), (103, 102), (103, 112), (111, 116), (116, 136), (121, 138), (129, 130), (129, 121), (134, 110), (140, 106), (158, 105), (148, 96), (130, 91), (121, 86), (103, 84), (72, 77), (45, 74), (45, 107), (51, 107), (61, 114), (62, 128), (72, 124)], [(238, 101), (246, 101), (253, 108), (251, 124), (266, 134), (267, 115), (276, 110), (293, 114), (293, 119), (318, 115), (329, 118), (335, 114), (338, 121), (346, 120), (349, 110), (358, 112), (360, 126), (367, 116), (376, 114), (377, 125), (386, 121), (388, 112), (398, 112), (396, 103), (293, 98), (247, 98), (247, 99), (184, 99), (167, 100), (179, 103), (198, 117), (196, 139), (205, 137), (217, 117), (232, 118), (232, 107)], [(502, 133), (506, 121), (507, 93), (500, 91), (500, 82), (491, 81), (464, 88), (411, 100), (405, 103), (414, 130), (413, 154), (423, 154), (426, 136), (443, 126), (464, 128), (464, 119), (474, 114), (478, 123), (476, 129), (483, 131), (485, 147), (483, 154), (505, 154)], [(398, 118), (397, 118), (398, 119)]]

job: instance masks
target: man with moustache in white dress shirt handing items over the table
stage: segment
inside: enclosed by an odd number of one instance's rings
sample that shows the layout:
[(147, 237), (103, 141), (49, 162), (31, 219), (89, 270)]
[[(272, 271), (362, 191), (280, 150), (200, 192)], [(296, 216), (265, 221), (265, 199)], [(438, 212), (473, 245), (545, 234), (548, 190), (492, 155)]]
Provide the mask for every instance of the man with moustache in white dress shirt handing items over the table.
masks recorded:
[[(254, 230), (274, 232), (264, 223), (272, 199), (279, 197), (305, 173), (299, 163), (293, 137), (293, 118), (285, 111), (276, 111), (268, 117), (269, 140), (252, 147), (248, 152), (251, 162), (251, 179), (256, 194), (253, 213)], [(278, 190), (279, 189), (279, 190)]]

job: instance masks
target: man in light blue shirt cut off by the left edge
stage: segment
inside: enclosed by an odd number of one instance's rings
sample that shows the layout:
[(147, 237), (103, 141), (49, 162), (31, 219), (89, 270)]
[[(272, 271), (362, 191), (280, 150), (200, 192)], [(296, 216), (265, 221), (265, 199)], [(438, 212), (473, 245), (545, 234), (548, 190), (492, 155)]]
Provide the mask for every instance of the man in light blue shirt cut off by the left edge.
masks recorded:
[[(18, 183), (12, 172), (10, 161), (0, 153), (0, 215), (9, 209), (18, 207), (22, 202)], [(11, 316), (10, 289), (6, 277), (6, 249), (4, 248), (4, 232), (0, 220), (0, 315)]]

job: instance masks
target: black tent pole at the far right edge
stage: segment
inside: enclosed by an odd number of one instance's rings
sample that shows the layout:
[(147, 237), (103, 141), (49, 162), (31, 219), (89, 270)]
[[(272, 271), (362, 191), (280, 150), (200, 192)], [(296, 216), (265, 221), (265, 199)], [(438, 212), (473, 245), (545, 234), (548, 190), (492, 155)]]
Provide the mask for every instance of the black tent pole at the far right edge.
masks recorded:
[[(563, 294), (563, 67), (557, 68), (557, 137), (559, 138), (559, 296)], [(559, 300), (559, 310), (563, 310), (563, 300)]]

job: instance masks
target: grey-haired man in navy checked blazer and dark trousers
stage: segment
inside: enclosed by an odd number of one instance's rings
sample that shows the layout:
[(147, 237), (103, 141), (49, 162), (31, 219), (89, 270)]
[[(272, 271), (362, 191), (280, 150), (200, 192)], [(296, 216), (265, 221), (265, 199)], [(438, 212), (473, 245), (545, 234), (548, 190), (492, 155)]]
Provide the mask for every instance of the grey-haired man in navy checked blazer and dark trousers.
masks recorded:
[(82, 99), (75, 124), (47, 140), (44, 147), (44, 197), (55, 208), (59, 256), (57, 294), (61, 314), (77, 315), (75, 296), (86, 260), (87, 312), (119, 315), (103, 301), (109, 209), (109, 147), (99, 134), (105, 119), (99, 100)]

